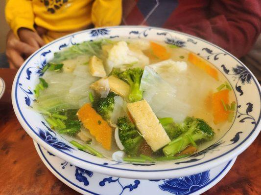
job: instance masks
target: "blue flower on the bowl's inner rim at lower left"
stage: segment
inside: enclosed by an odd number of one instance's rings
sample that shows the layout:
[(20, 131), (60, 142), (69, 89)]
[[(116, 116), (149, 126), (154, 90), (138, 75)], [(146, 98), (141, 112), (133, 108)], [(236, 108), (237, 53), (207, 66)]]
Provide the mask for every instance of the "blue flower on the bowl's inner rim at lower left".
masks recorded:
[(52, 145), (56, 149), (61, 150), (68, 150), (71, 151), (73, 148), (62, 141), (59, 141), (57, 137), (50, 134), (48, 131), (43, 131), (42, 129), (38, 128), (39, 136), (48, 144)]

